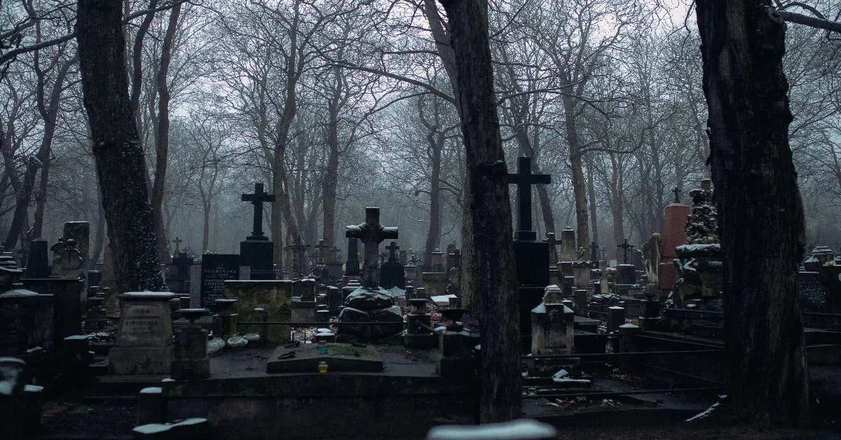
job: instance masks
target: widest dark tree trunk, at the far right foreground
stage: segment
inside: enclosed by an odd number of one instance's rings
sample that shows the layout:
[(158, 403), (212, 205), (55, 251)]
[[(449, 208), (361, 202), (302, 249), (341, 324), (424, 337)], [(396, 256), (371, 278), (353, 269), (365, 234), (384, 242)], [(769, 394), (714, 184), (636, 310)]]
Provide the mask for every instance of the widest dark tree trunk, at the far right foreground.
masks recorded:
[(796, 294), (804, 219), (788, 142), (785, 24), (770, 1), (696, 4), (724, 252), (731, 410), (759, 427), (801, 425), (810, 415)]

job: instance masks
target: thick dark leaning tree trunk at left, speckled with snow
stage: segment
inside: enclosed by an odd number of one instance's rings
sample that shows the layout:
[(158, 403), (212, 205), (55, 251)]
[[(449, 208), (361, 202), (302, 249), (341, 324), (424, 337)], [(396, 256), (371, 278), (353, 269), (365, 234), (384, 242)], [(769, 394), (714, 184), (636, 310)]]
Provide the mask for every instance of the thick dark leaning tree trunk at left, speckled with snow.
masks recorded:
[(82, 92), (121, 292), (161, 290), (145, 162), (124, 69), (121, 4), (79, 0)]

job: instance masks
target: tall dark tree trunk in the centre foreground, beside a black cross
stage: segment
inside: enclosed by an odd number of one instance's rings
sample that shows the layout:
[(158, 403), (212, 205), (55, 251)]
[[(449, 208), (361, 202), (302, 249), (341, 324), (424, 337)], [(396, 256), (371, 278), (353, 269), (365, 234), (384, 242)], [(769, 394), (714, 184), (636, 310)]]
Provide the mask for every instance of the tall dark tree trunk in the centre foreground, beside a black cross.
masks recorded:
[(472, 212), (476, 273), (482, 298), (479, 379), (483, 423), (516, 419), (521, 411), (520, 317), (517, 312), (511, 206), (505, 153), (496, 114), (486, 0), (444, 0), (456, 60), (459, 115)]

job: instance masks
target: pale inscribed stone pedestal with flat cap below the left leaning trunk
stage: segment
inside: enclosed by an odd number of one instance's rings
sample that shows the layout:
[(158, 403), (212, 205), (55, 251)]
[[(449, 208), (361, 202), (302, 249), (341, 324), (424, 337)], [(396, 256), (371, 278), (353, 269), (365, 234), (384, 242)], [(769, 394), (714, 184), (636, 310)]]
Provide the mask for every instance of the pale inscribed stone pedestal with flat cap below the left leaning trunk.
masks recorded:
[(119, 295), (117, 342), (108, 353), (112, 374), (167, 375), (172, 365), (172, 321), (169, 292)]

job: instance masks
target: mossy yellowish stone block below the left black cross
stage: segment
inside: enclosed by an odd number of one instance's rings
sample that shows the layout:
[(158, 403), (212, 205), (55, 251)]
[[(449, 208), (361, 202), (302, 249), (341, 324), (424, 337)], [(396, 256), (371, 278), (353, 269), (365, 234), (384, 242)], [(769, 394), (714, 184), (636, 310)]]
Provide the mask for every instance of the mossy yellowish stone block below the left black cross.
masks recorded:
[[(239, 321), (260, 321), (255, 309), (262, 307), (269, 321), (292, 319), (292, 295), (289, 282), (284, 280), (230, 280), (225, 281), (225, 298), (238, 301), (230, 311), (239, 315)], [(262, 325), (238, 325), (242, 333), (259, 333)], [(289, 342), (289, 326), (267, 326), (266, 343), (269, 345)]]

